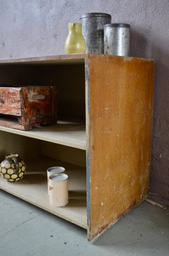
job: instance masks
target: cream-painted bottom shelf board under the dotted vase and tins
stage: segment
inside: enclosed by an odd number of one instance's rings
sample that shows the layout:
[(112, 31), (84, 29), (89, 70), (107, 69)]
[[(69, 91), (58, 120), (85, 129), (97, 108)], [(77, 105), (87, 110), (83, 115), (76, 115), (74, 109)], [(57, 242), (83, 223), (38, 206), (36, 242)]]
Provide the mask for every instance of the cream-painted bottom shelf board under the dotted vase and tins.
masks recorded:
[[(8, 182), (0, 177), (0, 188), (23, 200), (51, 212), (56, 216), (87, 229), (86, 174), (85, 168), (47, 157), (26, 161), (27, 173), (18, 182)], [(69, 204), (53, 207), (47, 192), (47, 168), (64, 166), (69, 176)]]

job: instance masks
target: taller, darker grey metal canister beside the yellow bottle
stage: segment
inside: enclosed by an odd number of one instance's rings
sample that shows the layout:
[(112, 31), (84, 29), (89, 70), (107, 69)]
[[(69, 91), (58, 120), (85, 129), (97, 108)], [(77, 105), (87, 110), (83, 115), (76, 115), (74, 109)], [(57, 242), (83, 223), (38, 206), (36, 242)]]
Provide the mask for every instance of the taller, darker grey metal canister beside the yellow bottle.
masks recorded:
[(104, 25), (111, 23), (107, 13), (86, 13), (80, 16), (86, 53), (104, 53)]

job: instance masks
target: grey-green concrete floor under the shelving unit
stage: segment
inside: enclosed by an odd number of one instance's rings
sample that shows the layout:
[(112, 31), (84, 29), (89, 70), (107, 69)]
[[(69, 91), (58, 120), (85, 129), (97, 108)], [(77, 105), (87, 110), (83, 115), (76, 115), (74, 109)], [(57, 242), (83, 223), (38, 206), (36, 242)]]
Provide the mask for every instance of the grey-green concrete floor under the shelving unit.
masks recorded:
[(168, 213), (143, 202), (89, 243), (83, 228), (0, 191), (0, 255), (168, 256)]

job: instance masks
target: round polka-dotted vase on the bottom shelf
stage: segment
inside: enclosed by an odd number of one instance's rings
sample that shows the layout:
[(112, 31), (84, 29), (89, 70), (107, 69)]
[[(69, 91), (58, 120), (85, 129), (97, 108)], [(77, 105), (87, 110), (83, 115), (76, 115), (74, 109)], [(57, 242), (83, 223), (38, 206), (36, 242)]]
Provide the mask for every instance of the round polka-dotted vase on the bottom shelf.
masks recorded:
[(26, 173), (26, 163), (19, 158), (18, 154), (6, 155), (0, 164), (0, 173), (10, 182), (21, 180)]

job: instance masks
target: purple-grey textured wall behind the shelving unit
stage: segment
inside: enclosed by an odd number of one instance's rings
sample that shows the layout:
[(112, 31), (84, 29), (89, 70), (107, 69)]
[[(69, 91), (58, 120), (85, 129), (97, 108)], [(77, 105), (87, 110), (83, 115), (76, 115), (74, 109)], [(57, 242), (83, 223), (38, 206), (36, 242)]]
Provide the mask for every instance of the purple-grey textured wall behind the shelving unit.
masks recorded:
[(0, 58), (63, 54), (68, 22), (87, 12), (131, 24), (131, 56), (155, 60), (151, 192), (169, 199), (168, 0), (0, 0)]

